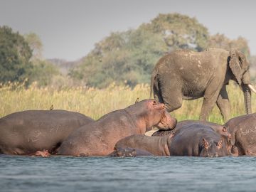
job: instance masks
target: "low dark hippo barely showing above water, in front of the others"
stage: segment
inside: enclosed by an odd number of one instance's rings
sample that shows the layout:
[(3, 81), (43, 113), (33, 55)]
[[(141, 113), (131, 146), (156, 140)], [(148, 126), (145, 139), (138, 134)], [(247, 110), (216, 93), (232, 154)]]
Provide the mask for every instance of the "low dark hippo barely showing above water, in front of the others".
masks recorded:
[(135, 157), (135, 156), (153, 156), (148, 151), (130, 147), (114, 147), (114, 151), (107, 155), (112, 157)]

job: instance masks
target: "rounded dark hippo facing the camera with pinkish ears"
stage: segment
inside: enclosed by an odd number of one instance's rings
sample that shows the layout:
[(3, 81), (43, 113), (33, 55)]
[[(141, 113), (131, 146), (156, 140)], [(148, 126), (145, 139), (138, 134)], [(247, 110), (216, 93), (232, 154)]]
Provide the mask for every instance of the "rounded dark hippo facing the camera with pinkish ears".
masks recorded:
[(207, 156), (230, 155), (223, 137), (206, 124), (186, 124), (178, 129), (171, 139), (171, 156)]

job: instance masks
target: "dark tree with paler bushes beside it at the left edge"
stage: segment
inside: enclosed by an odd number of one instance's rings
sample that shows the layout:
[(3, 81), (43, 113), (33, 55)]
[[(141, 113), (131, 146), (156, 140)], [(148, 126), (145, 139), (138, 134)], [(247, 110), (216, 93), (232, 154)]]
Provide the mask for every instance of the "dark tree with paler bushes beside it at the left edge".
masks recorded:
[(35, 33), (14, 33), (7, 26), (0, 27), (0, 82), (37, 81), (49, 85), (58, 68), (41, 59), (42, 43)]

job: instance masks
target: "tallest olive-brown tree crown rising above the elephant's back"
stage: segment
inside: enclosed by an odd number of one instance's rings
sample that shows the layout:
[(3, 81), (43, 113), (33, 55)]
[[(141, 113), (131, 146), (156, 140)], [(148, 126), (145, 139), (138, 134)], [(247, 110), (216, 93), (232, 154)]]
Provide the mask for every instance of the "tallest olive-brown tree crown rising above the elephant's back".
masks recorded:
[(141, 28), (161, 34), (169, 50), (186, 48), (201, 51), (207, 46), (208, 30), (196, 18), (181, 14), (159, 14)]

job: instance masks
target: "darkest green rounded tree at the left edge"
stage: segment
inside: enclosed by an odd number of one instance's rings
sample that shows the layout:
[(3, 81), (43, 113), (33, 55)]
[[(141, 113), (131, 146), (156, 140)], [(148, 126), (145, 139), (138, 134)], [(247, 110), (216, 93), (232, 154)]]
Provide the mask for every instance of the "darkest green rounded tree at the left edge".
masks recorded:
[(31, 73), (32, 50), (23, 36), (0, 26), (0, 82), (23, 81)]

